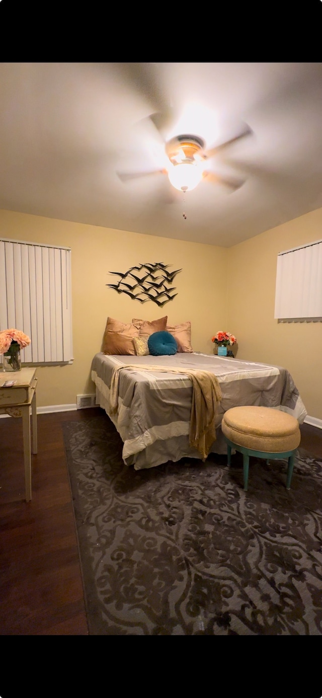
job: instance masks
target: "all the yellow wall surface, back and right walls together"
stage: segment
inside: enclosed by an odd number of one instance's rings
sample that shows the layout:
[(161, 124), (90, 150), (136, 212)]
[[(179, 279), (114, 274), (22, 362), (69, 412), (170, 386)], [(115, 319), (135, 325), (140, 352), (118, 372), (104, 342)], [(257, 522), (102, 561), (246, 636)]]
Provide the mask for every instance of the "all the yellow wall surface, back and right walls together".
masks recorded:
[[(0, 237), (71, 247), (74, 362), (38, 368), (38, 406), (75, 404), (77, 394), (95, 392), (90, 367), (108, 315), (124, 322), (168, 315), (173, 323), (191, 320), (195, 351), (212, 353), (212, 335), (227, 329), (237, 337), (238, 359), (285, 366), (309, 415), (322, 419), (322, 324), (274, 319), (277, 254), (321, 239), (321, 230), (318, 209), (219, 248), (0, 210)], [(142, 262), (182, 268), (178, 295), (163, 308), (106, 285), (115, 282), (109, 272)]]

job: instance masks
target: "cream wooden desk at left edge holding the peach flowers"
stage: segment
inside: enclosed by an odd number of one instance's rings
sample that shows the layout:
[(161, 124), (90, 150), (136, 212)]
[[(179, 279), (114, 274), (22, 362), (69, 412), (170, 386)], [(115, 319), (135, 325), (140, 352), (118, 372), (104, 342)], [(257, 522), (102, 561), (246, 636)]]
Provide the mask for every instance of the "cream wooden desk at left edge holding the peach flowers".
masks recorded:
[[(37, 453), (37, 410), (36, 410), (36, 378), (37, 369), (21, 369), (21, 371), (0, 372), (0, 414), (10, 417), (22, 417), (22, 433), (24, 440), (24, 482), (26, 487), (26, 502), (31, 500), (31, 452)], [(15, 380), (12, 387), (5, 388), (6, 380)], [(32, 420), (32, 448), (30, 433), (30, 407)]]

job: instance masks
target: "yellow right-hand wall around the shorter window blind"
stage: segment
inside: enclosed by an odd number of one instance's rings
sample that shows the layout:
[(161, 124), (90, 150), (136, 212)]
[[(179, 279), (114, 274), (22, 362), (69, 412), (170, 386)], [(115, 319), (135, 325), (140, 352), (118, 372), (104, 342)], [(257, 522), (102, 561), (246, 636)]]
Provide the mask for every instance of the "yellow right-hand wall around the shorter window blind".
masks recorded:
[(307, 412), (322, 419), (322, 323), (277, 322), (277, 254), (322, 239), (322, 209), (228, 250), (228, 324), (238, 359), (285, 366)]

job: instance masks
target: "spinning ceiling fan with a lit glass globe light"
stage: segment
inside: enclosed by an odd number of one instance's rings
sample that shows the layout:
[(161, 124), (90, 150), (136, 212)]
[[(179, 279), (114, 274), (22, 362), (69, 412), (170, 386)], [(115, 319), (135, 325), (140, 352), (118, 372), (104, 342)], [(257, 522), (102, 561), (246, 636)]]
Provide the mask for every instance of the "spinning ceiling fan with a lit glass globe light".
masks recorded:
[[(155, 124), (153, 117), (149, 118)], [(117, 172), (117, 174), (122, 181), (146, 177), (150, 174), (167, 174), (170, 184), (184, 193), (196, 188), (203, 179), (216, 184), (224, 184), (235, 190), (244, 184), (244, 179), (215, 174), (207, 169), (207, 161), (230, 144), (247, 135), (251, 135), (251, 133), (251, 128), (244, 124), (240, 133), (211, 149), (205, 149), (205, 140), (198, 135), (180, 134), (164, 144), (165, 153), (169, 160), (166, 168), (152, 170), (152, 172)]]

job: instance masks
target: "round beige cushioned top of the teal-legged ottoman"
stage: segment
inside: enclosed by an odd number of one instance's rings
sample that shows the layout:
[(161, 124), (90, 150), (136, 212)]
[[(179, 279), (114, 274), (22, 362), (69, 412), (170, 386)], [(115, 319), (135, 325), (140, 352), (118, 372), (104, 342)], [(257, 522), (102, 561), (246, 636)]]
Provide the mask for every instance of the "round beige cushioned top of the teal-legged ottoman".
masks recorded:
[(292, 451), (301, 440), (298, 420), (270, 407), (233, 407), (225, 412), (221, 430), (236, 445), (267, 453)]

